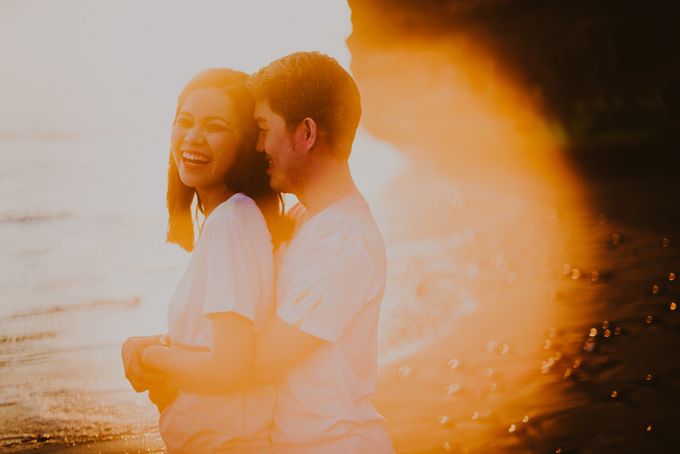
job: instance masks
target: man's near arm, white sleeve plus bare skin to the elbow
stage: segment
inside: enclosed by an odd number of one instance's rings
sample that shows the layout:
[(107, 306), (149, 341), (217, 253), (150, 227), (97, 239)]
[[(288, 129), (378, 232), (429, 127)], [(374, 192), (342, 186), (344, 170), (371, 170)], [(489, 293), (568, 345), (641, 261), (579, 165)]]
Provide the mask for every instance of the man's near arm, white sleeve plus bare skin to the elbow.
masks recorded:
[(255, 340), (257, 383), (280, 382), (296, 364), (340, 338), (373, 284), (371, 263), (362, 241), (342, 235), (289, 263), (293, 272), (279, 282), (277, 308)]

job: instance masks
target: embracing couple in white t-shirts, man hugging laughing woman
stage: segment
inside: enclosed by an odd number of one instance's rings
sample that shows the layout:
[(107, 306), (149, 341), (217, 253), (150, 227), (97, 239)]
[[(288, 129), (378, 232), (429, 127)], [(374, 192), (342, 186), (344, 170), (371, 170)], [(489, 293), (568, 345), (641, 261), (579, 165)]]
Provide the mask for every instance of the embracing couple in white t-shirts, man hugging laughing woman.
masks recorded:
[(169, 452), (393, 452), (369, 401), (386, 260), (348, 166), (360, 115), (351, 76), (318, 52), (250, 77), (209, 69), (181, 92), (168, 241), (192, 256), (168, 334), (122, 347)]

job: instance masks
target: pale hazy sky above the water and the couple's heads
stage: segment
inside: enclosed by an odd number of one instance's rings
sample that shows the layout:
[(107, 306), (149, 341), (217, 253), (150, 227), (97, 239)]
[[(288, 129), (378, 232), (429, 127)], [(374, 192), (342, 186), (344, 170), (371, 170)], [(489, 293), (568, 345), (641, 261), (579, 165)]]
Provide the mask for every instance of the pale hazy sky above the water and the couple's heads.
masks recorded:
[(0, 131), (166, 127), (199, 70), (297, 50), (348, 67), (350, 32), (341, 0), (2, 0)]

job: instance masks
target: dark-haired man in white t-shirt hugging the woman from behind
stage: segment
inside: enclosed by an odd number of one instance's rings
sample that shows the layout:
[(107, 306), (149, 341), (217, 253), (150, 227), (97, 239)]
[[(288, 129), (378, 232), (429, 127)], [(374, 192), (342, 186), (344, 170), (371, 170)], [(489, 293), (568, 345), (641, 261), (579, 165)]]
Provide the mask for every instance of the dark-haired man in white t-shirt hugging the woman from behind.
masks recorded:
[(252, 87), (271, 185), (300, 200), (278, 257), (276, 311), (256, 341), (256, 379), (279, 381), (274, 450), (393, 452), (369, 402), (386, 260), (348, 165), (358, 89), (318, 52), (272, 62)]

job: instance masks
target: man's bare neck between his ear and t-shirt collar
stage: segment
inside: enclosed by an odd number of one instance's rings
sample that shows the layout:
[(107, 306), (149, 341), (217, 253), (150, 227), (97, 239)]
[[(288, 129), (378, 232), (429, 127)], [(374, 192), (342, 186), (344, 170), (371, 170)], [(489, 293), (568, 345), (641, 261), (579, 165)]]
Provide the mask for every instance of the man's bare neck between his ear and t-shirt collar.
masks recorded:
[(360, 195), (347, 161), (325, 161), (315, 166), (297, 198), (309, 215), (314, 215), (340, 199)]

